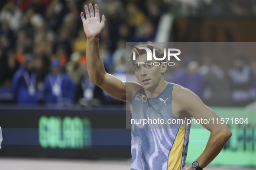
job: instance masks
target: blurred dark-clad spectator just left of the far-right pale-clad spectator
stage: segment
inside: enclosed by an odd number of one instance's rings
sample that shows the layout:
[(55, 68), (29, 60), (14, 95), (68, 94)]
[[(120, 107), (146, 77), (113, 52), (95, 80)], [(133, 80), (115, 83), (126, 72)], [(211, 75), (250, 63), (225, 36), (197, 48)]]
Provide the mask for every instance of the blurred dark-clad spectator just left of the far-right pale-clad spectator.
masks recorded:
[(203, 60), (199, 73), (204, 79), (204, 102), (211, 106), (230, 106), (230, 86), (223, 70), (214, 63), (212, 57), (204, 57)]

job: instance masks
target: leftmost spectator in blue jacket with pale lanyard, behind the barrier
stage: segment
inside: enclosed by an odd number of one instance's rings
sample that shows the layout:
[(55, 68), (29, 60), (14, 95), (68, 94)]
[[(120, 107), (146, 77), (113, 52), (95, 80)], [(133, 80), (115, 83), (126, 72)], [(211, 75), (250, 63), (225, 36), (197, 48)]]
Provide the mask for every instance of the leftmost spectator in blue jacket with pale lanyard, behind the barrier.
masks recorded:
[(33, 54), (25, 55), (24, 66), (13, 76), (12, 92), (17, 103), (37, 103), (36, 58)]

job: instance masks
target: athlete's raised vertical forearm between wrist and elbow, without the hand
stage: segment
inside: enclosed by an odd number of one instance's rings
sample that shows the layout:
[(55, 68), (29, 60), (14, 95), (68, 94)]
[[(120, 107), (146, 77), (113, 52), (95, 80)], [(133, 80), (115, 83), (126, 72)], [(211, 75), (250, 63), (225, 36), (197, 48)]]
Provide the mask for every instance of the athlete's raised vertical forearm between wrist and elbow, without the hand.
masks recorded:
[(99, 85), (106, 74), (103, 61), (100, 58), (99, 38), (88, 38), (86, 47), (86, 62), (91, 82)]

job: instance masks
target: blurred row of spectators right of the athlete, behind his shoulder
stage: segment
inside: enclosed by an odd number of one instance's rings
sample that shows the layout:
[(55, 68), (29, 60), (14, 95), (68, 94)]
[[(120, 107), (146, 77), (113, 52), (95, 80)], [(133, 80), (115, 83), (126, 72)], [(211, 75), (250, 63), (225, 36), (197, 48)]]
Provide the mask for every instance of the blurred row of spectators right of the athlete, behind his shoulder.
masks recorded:
[(207, 105), (244, 107), (256, 101), (256, 60), (249, 63), (246, 55), (236, 54), (226, 72), (212, 57), (198, 62), (187, 56), (175, 63), (168, 81), (190, 89)]

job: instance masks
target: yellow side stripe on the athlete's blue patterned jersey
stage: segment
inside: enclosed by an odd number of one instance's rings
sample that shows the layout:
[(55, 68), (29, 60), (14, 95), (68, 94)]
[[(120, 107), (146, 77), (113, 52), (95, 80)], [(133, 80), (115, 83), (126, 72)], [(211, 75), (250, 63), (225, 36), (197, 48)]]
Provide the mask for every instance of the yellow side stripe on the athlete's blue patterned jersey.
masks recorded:
[(185, 140), (185, 123), (181, 124), (178, 134), (172, 145), (172, 149), (169, 153), (168, 158), (168, 170), (180, 170), (181, 169), (181, 159), (183, 152), (183, 145)]

